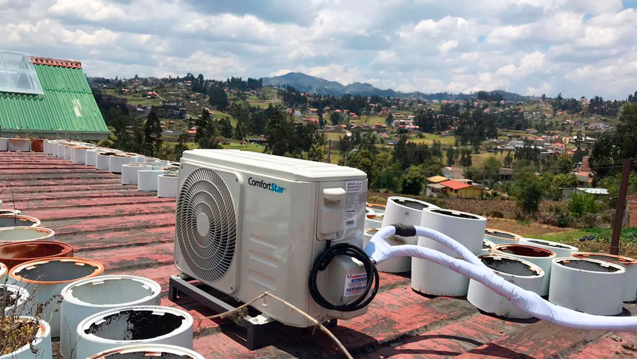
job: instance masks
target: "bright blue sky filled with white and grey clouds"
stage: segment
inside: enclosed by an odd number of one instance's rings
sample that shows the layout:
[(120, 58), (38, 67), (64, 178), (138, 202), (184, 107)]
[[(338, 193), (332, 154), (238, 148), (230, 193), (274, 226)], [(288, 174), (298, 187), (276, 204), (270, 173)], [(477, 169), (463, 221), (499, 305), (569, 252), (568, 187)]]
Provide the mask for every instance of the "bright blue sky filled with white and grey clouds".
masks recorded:
[(0, 48), (89, 76), (300, 71), (424, 92), (624, 99), (637, 0), (0, 0)]

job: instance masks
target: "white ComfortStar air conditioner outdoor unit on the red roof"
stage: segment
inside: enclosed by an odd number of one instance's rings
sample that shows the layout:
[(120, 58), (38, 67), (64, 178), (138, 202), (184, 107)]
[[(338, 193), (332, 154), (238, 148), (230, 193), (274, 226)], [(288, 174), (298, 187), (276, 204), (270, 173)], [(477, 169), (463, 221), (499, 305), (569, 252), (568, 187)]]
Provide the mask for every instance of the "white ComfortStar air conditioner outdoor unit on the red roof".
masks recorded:
[[(336, 253), (315, 272), (314, 287), (331, 309), (315, 300), (310, 274), (327, 248), (362, 247), (366, 199), (367, 175), (358, 169), (251, 151), (184, 151), (175, 264), (241, 302), (269, 291), (320, 321), (359, 316), (370, 265)], [(352, 302), (361, 305), (347, 307)], [(313, 325), (275, 300), (257, 309), (287, 325)]]

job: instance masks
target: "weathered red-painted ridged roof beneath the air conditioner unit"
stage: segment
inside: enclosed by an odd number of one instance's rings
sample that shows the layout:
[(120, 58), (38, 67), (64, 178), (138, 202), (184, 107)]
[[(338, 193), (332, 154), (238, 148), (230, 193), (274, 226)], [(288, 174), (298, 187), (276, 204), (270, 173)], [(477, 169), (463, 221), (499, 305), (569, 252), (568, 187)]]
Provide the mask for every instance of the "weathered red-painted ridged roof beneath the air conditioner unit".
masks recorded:
[[(166, 299), (173, 265), (175, 199), (157, 198), (121, 185), (108, 171), (43, 153), (0, 152), (0, 200), (55, 230), (55, 239), (75, 247), (76, 257), (103, 262), (106, 274), (154, 279)], [(206, 359), (337, 358), (338, 349), (320, 331), (290, 328), (271, 333), (272, 346), (248, 351), (226, 333), (229, 321), (194, 303), (182, 304), (195, 318), (194, 349)], [(635, 313), (636, 304), (624, 304)], [(201, 324), (201, 326), (200, 326)], [(220, 326), (224, 327), (222, 331)], [(503, 320), (482, 314), (464, 298), (420, 295), (405, 274), (380, 273), (380, 290), (368, 313), (338, 322), (332, 332), (355, 358), (628, 358), (637, 333), (584, 332), (538, 320)]]

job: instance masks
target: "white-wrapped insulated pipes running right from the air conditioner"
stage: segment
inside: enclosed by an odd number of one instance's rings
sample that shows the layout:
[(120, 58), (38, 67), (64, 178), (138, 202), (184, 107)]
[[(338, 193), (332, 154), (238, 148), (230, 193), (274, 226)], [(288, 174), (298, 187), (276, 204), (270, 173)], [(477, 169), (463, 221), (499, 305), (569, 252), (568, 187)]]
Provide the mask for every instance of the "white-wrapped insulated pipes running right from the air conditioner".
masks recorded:
[[(426, 236), (452, 249), (462, 259), (456, 259), (440, 251), (415, 246), (413, 244), (390, 246), (385, 242), (385, 238), (394, 234), (404, 237)], [(573, 311), (556, 306), (548, 302), (548, 300), (542, 299), (537, 293), (524, 290), (513, 283), (509, 283), (504, 278), (497, 276), (497, 274), (484, 265), (476, 255), (462, 246), (462, 244), (437, 230), (412, 225), (389, 225), (378, 230), (378, 232), (371, 237), (364, 251), (376, 264), (394, 257), (415, 257), (431, 260), (436, 264), (447, 267), (452, 271), (459, 272), (464, 276), (468, 276), (482, 283), (490, 290), (508, 299), (513, 305), (522, 309), (522, 311), (555, 325), (581, 330), (637, 332), (637, 317), (601, 316)]]

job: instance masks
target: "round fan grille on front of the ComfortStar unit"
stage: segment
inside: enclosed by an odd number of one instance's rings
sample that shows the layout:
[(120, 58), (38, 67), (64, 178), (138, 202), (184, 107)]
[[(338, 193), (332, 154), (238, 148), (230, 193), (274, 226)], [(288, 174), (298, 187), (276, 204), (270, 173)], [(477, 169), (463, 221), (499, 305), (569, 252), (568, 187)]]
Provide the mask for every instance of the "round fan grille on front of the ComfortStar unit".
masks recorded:
[(230, 268), (236, 245), (236, 218), (230, 191), (217, 172), (199, 168), (183, 182), (177, 199), (175, 232), (193, 274), (217, 281)]

